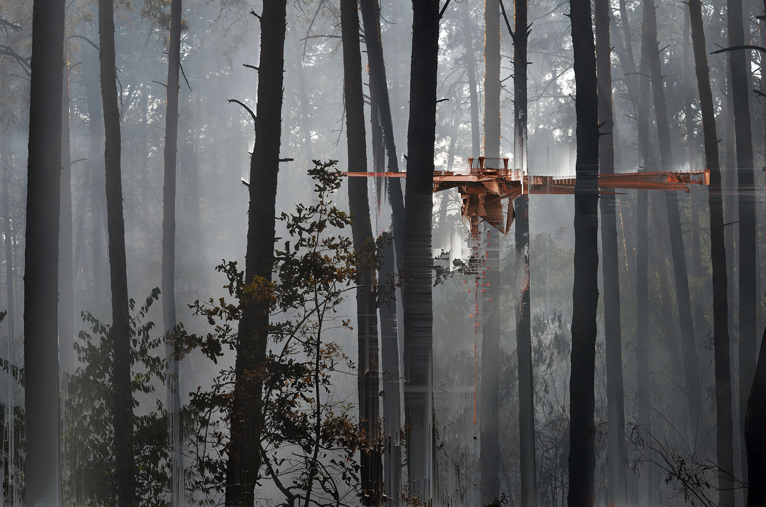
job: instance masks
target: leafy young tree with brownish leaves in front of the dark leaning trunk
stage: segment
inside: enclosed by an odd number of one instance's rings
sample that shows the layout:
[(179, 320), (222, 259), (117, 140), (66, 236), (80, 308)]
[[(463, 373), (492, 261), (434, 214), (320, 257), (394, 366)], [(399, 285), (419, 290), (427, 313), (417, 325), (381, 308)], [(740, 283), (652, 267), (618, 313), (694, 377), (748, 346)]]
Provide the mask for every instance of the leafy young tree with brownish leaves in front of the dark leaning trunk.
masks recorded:
[[(231, 323), (240, 319), (244, 308), (266, 307), (271, 321), (266, 367), (248, 372), (264, 383), (263, 466), (257, 479), (270, 480), (280, 489), (284, 495), (280, 505), (323, 505), (328, 500), (357, 505), (352, 494), (358, 485), (355, 452), (378, 442), (367, 441), (349, 415), (352, 404), (336, 396), (332, 374), (354, 365), (336, 342), (327, 341), (326, 334), (331, 329), (352, 329), (350, 319), (336, 315), (337, 306), (345, 293), (356, 288), (356, 267), (369, 264), (375, 269), (377, 258), (372, 253), (375, 245), (355, 253), (352, 241), (337, 233), (351, 223), (331, 200), (341, 176), (334, 168), (336, 161), (315, 164), (309, 175), (316, 181), (316, 201), (298, 204), (292, 214), (279, 218), (290, 239), (275, 250), (277, 281), (256, 277), (245, 283), (237, 263), (222, 263), (217, 270), (228, 277), (224, 287), (235, 302), (211, 298), (190, 305), (214, 329), (205, 337), (179, 333), (175, 350), (180, 355), (199, 348), (217, 362), (224, 347), (237, 348)], [(233, 384), (234, 369), (224, 368), (211, 390), (191, 393), (191, 412), (198, 417), (192, 437), (193, 489), (210, 493), (223, 487)]]

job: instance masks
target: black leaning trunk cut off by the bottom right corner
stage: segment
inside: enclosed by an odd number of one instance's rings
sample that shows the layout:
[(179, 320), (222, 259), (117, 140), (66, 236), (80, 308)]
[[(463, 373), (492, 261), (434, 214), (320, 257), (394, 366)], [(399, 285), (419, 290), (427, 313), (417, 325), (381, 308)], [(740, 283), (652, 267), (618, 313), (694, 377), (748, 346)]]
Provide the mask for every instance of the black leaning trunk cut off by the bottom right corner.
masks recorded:
[[(716, 368), (716, 374), (718, 373)], [(758, 365), (745, 415), (745, 450), (748, 454), (748, 507), (766, 505), (766, 329), (758, 352)], [(759, 479), (752, 479), (758, 477)]]

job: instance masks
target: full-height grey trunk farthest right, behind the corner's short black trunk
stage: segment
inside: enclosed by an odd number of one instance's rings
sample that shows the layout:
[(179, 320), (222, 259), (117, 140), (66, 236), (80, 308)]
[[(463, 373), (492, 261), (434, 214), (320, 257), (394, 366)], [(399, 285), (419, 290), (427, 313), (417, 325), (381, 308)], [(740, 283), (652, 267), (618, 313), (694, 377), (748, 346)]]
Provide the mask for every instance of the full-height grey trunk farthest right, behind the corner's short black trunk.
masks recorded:
[[(728, 44), (745, 44), (742, 26), (742, 0), (727, 0)], [(749, 29), (749, 28), (748, 28)], [(748, 394), (755, 373), (755, 188), (753, 176), (753, 142), (750, 124), (750, 60), (747, 51), (731, 51), (728, 54), (731, 69), (732, 101), (734, 106), (734, 130), (737, 152), (737, 180), (739, 204), (739, 434), (745, 441), (745, 411)], [(744, 275), (743, 275), (744, 273)], [(746, 453), (740, 453), (742, 480), (748, 482)], [(730, 470), (733, 472), (733, 470)]]

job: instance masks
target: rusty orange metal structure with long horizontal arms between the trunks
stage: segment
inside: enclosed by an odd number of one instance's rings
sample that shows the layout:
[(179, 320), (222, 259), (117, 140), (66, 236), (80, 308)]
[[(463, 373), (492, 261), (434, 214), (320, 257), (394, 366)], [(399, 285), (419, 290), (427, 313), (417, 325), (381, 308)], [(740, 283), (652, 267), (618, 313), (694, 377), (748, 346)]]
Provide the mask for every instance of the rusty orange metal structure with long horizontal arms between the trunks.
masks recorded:
[[(470, 221), (476, 234), (480, 221), (486, 221), (507, 234), (513, 223), (513, 207), (509, 203), (523, 194), (575, 193), (574, 176), (535, 176), (509, 169), (509, 159), (468, 159), (465, 171), (434, 171), (434, 192), (458, 188), (463, 200), (463, 217)], [(489, 160), (502, 161), (502, 168), (486, 166)], [(349, 176), (377, 178), (406, 178), (406, 172), (346, 172)], [(709, 185), (710, 173), (696, 171), (621, 172), (599, 175), (600, 194), (616, 194), (614, 190), (689, 191), (689, 185)], [(508, 207), (504, 214), (502, 209)]]

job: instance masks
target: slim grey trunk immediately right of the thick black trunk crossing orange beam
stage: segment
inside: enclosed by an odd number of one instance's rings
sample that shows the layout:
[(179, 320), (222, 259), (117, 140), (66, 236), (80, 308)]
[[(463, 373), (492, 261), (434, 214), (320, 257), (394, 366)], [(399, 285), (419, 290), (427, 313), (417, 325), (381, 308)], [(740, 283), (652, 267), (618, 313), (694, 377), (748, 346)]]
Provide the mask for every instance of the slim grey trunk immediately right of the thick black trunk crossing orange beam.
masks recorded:
[[(609, 44), (609, 1), (594, 3), (596, 28), (596, 66), (598, 121), (604, 127), (598, 145), (601, 174), (614, 174), (614, 116), (612, 113), (611, 47)], [(604, 260), (604, 337), (607, 345), (607, 422), (609, 489), (607, 503), (625, 502), (625, 410), (622, 376), (622, 334), (620, 330), (620, 270), (617, 254), (617, 210), (614, 195), (601, 201), (601, 245)]]

